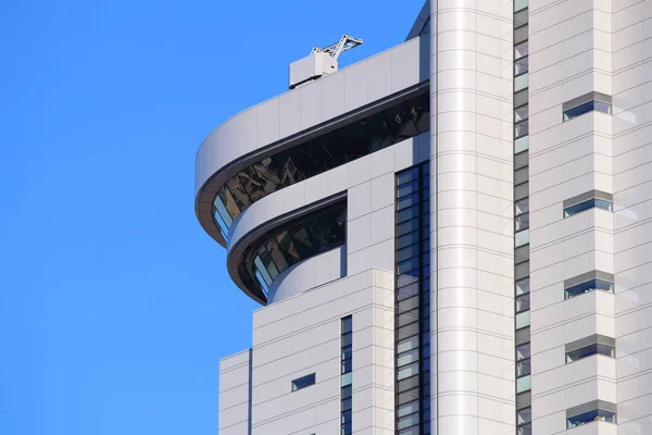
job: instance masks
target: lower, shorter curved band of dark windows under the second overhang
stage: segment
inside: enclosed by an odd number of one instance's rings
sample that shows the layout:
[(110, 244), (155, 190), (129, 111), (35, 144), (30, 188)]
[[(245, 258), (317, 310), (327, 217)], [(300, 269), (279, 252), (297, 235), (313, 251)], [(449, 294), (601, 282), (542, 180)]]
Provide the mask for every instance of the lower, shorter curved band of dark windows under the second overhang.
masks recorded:
[(267, 239), (253, 258), (253, 275), (265, 297), (272, 282), (291, 265), (347, 240), (346, 201)]

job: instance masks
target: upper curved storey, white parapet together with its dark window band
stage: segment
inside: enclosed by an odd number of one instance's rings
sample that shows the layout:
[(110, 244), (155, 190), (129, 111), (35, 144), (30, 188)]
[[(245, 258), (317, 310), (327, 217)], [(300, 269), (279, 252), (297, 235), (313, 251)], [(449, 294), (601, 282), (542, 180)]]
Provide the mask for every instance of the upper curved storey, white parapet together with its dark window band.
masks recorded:
[(414, 38), (220, 125), (197, 153), (202, 227), (226, 247), (262, 197), (426, 130), (428, 65), (429, 38)]

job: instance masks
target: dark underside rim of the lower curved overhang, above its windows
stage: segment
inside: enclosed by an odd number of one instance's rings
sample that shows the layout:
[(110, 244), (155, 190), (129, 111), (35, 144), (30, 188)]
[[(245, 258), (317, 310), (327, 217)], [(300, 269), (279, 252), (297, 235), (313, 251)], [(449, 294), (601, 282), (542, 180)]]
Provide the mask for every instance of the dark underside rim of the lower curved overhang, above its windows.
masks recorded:
[[(346, 191), (336, 194), (321, 201), (308, 204), (291, 212), (279, 215), (278, 217), (266, 221), (263, 224), (248, 232), (240, 237), (229, 249), (227, 254), (227, 270), (234, 283), (251, 297), (253, 300), (267, 304), (267, 298), (261, 285), (254, 277), (254, 257), (259, 249), (271, 238), (283, 233), (291, 227), (301, 225), (315, 217), (324, 215), (329, 211), (344, 208), (346, 210), (347, 194)], [(344, 223), (346, 225), (346, 223)], [(342, 240), (342, 244), (344, 240)], [(301, 258), (299, 262), (306, 260), (310, 257)]]

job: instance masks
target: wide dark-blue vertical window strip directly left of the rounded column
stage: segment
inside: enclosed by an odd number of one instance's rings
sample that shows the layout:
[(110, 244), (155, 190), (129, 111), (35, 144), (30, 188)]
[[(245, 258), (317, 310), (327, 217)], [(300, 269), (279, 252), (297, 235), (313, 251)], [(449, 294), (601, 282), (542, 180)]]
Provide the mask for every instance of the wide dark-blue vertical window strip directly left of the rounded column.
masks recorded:
[[(398, 173), (396, 186), (396, 431), (430, 434), (429, 162)], [(400, 212), (415, 198), (406, 232)]]

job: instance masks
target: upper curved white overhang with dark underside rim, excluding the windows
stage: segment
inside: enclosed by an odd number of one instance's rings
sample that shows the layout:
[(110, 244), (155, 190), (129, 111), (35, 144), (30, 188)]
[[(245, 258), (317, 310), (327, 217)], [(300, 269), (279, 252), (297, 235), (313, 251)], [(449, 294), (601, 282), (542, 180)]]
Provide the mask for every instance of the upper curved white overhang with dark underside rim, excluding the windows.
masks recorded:
[[(213, 201), (239, 171), (428, 89), (429, 38), (406, 41), (314, 83), (251, 108), (217, 127), (196, 162), (196, 213), (226, 247)], [(236, 146), (237, 145), (237, 146)]]

